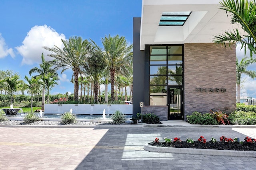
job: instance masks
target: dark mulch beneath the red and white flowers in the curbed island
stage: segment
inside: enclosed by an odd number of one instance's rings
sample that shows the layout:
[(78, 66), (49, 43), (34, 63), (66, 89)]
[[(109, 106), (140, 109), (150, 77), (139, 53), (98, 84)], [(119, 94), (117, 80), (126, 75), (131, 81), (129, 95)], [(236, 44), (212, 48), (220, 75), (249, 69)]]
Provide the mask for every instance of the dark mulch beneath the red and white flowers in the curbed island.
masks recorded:
[(248, 143), (243, 142), (240, 144), (238, 142), (206, 142), (202, 143), (199, 141), (194, 141), (194, 143), (187, 143), (186, 141), (177, 142), (177, 143), (164, 143), (164, 142), (151, 142), (148, 145), (155, 146), (155, 147), (175, 147), (175, 148), (197, 148), (197, 149), (217, 149), (217, 150), (244, 150), (249, 151), (253, 150), (256, 151), (256, 143)]

